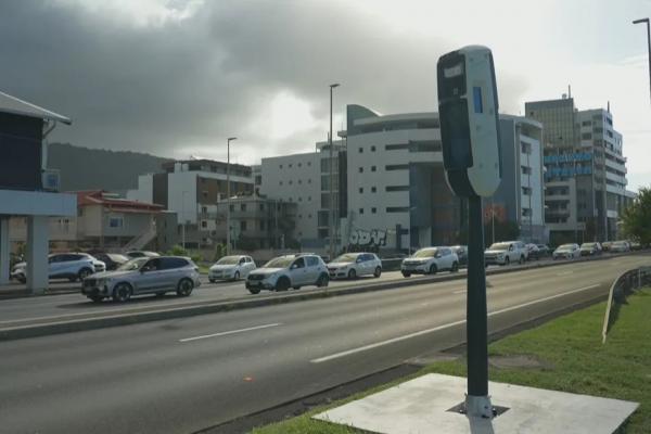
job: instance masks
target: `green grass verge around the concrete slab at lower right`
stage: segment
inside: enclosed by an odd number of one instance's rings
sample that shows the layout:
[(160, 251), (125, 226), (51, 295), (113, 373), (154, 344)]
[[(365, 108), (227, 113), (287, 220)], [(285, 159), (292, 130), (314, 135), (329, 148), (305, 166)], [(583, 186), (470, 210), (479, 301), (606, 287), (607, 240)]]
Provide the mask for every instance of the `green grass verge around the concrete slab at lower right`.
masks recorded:
[[(488, 348), (490, 356), (531, 356), (539, 360), (542, 367), (492, 367), (490, 381), (637, 401), (640, 407), (626, 425), (626, 433), (651, 432), (651, 291), (644, 290), (628, 298), (628, 304), (622, 306), (618, 319), (609, 332), (605, 345), (602, 345), (604, 309), (605, 304), (600, 303), (493, 343)], [(436, 362), (419, 374), (430, 372), (465, 376), (465, 361)], [(398, 382), (406, 380), (409, 379)], [(253, 433), (360, 433), (350, 427), (315, 421), (310, 417), (395, 383), (255, 429)]]

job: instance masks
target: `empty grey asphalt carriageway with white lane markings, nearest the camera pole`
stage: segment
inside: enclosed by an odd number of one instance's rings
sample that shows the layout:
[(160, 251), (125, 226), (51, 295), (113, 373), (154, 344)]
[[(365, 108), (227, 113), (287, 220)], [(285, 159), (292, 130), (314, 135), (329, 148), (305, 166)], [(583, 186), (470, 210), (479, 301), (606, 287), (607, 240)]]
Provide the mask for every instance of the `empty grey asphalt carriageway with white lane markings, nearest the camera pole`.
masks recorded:
[[(651, 257), (490, 276), (489, 328), (603, 295), (639, 265)], [(461, 343), (464, 317), (452, 280), (2, 342), (0, 433), (190, 433)]]

